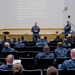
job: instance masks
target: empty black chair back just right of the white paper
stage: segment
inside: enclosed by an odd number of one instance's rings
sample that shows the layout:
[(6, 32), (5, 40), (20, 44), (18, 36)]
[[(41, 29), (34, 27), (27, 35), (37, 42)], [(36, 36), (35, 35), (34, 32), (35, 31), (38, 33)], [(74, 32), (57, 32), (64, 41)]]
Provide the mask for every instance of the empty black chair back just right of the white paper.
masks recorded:
[(34, 58), (21, 58), (21, 64), (24, 69), (34, 69)]

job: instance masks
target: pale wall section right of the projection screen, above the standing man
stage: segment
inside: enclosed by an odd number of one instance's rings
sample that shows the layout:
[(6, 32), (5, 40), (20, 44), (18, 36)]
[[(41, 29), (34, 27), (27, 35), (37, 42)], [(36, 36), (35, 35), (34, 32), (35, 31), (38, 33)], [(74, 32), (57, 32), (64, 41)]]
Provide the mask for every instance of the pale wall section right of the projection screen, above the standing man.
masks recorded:
[[(75, 0), (65, 0), (65, 6), (67, 7), (66, 10), (64, 10), (64, 24), (66, 24), (66, 21), (70, 21), (72, 24), (72, 30), (75, 31)], [(68, 18), (68, 15), (70, 15), (70, 18)]]

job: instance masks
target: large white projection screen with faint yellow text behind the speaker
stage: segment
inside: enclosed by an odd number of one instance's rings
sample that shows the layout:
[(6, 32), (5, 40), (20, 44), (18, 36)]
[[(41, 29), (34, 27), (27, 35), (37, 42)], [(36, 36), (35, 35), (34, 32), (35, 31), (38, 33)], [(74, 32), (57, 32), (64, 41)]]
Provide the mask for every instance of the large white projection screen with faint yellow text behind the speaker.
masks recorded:
[(0, 28), (62, 28), (63, 9), (64, 0), (0, 0)]

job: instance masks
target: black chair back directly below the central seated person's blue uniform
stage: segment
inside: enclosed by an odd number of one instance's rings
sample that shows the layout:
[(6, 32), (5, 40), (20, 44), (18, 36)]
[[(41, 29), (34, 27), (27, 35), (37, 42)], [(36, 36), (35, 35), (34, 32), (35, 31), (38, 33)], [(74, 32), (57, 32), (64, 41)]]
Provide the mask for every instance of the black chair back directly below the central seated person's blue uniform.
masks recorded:
[(40, 58), (37, 60), (36, 67), (38, 69), (47, 69), (49, 66), (54, 65), (54, 59), (53, 58)]

